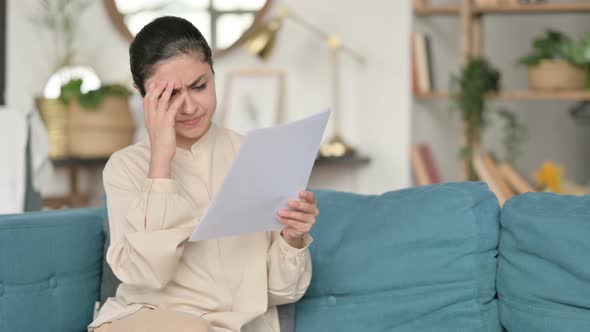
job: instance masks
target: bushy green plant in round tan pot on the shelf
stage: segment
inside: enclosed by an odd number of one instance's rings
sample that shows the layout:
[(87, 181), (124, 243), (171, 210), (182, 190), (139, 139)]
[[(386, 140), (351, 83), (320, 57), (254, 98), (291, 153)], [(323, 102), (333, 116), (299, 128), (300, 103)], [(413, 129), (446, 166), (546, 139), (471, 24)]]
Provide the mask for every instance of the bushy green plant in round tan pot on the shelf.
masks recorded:
[(588, 86), (590, 36), (575, 42), (548, 30), (533, 42), (533, 51), (518, 60), (527, 66), (529, 86), (536, 90), (580, 90)]

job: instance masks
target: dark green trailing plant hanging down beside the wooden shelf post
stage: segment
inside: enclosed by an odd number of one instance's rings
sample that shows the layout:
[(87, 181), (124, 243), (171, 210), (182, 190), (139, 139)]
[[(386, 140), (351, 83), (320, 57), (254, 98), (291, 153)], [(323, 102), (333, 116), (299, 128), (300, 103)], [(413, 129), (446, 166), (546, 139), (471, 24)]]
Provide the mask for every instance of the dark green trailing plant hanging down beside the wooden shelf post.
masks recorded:
[(479, 151), (481, 135), (490, 124), (490, 114), (495, 113), (505, 120), (503, 144), (505, 159), (514, 163), (519, 154), (520, 143), (526, 135), (526, 128), (516, 115), (506, 109), (492, 111), (487, 97), (500, 91), (500, 72), (484, 58), (471, 58), (461, 69), (459, 76), (451, 76), (452, 107), (461, 113), (465, 141), (460, 156), (468, 165), (468, 180), (476, 180), (473, 157)]

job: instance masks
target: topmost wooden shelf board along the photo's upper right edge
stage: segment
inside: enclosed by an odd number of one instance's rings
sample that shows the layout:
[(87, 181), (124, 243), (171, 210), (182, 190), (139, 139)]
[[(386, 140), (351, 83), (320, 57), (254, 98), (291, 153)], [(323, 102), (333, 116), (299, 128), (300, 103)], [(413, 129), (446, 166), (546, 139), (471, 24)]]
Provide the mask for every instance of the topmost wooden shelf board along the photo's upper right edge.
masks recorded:
[[(590, 12), (590, 2), (539, 3), (529, 5), (503, 5), (494, 7), (474, 7), (475, 14), (542, 14), (542, 13), (579, 13)], [(421, 6), (414, 8), (414, 14), (459, 15), (460, 6)]]

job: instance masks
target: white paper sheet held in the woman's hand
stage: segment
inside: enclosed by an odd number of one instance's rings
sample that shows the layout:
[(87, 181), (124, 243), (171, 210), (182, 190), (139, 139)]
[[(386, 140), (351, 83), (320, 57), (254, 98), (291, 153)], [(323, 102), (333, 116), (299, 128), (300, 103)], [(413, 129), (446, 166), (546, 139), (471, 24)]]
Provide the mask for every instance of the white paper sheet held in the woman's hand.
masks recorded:
[(246, 133), (190, 241), (280, 230), (277, 212), (305, 190), (330, 111)]

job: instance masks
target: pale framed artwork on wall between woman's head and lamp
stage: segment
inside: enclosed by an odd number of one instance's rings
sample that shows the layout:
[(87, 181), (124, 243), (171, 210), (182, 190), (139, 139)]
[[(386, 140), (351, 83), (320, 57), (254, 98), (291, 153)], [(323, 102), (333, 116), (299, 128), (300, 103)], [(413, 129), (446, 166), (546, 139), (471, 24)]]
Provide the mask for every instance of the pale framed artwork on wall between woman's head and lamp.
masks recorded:
[(221, 100), (221, 125), (245, 134), (280, 124), (284, 85), (285, 74), (280, 69), (232, 70)]

